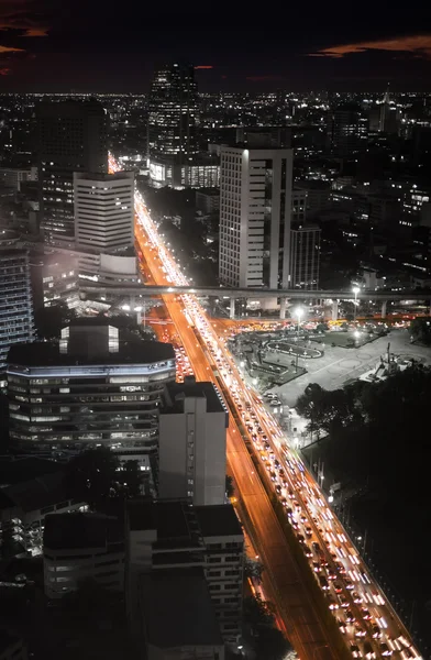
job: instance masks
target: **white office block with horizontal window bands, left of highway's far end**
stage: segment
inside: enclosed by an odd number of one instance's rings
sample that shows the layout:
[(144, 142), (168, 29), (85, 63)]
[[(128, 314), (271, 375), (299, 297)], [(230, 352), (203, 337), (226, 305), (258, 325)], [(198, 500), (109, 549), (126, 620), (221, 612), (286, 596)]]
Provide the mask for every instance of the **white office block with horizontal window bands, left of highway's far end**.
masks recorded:
[(75, 240), (78, 249), (118, 252), (133, 246), (133, 172), (75, 172)]

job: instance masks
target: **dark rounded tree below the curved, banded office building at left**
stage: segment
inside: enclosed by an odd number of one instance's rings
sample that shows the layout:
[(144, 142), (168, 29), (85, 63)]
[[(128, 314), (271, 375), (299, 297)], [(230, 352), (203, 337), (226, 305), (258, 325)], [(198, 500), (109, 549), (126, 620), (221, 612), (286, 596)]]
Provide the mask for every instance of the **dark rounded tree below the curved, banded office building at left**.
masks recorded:
[(95, 506), (115, 494), (120, 461), (108, 447), (82, 451), (66, 466), (66, 486), (70, 495)]

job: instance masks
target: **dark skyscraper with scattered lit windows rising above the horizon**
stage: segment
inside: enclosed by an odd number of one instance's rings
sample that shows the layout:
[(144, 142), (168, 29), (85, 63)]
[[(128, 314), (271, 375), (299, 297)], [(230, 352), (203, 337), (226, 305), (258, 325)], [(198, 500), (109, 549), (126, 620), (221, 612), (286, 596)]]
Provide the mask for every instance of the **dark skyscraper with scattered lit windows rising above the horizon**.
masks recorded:
[(181, 169), (198, 153), (199, 106), (192, 65), (158, 67), (148, 101), (147, 152), (155, 186), (181, 185)]

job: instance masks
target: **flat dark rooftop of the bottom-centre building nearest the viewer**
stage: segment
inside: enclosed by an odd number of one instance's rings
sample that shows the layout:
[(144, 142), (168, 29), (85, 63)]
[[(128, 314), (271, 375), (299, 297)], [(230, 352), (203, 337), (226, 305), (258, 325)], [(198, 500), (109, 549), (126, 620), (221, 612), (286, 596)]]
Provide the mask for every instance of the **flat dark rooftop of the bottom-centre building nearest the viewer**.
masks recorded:
[(201, 569), (141, 575), (140, 586), (148, 644), (167, 649), (223, 645)]

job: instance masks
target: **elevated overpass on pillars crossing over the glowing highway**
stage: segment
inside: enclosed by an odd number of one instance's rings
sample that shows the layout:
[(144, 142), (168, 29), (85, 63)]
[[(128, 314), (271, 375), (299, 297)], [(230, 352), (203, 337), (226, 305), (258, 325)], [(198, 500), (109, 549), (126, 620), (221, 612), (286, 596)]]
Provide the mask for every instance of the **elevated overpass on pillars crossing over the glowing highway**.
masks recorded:
[(196, 296), (213, 296), (218, 298), (230, 298), (231, 300), (231, 317), (234, 316), (234, 305), (236, 298), (280, 298), (280, 318), (285, 318), (286, 301), (290, 298), (301, 300), (325, 299), (332, 300), (332, 318), (338, 318), (338, 304), (340, 300), (376, 300), (382, 302), (382, 317), (386, 316), (386, 305), (388, 300), (426, 300), (428, 304), (431, 300), (431, 290), (412, 290), (412, 292), (358, 292), (355, 294), (352, 290), (302, 290), (288, 288), (230, 288), (230, 287), (208, 287), (208, 286), (156, 286), (146, 284), (111, 286), (100, 284), (80, 283), (79, 288), (87, 294), (98, 294), (102, 296), (129, 296), (132, 305), (136, 298), (142, 296), (178, 296), (181, 294), (192, 294)]

